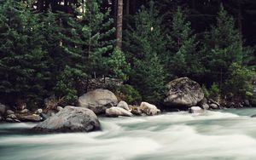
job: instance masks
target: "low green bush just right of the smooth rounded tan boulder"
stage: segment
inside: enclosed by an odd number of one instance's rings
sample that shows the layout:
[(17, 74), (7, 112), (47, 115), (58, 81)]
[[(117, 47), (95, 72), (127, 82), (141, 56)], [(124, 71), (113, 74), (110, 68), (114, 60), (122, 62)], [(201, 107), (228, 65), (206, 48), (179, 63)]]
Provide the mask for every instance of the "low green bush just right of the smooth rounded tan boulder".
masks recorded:
[(125, 100), (131, 105), (138, 104), (142, 100), (142, 96), (139, 94), (139, 92), (129, 84), (120, 86), (116, 93), (119, 95), (121, 100)]

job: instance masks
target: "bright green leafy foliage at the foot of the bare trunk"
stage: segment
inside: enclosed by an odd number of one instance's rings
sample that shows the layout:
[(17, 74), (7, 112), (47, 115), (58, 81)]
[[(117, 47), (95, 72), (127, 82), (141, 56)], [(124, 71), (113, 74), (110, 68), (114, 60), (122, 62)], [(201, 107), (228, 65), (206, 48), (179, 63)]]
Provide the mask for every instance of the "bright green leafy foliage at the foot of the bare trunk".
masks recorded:
[(111, 54), (106, 60), (108, 63), (110, 75), (113, 77), (127, 80), (128, 73), (131, 70), (130, 64), (125, 60), (125, 54), (120, 49), (114, 49), (113, 54)]

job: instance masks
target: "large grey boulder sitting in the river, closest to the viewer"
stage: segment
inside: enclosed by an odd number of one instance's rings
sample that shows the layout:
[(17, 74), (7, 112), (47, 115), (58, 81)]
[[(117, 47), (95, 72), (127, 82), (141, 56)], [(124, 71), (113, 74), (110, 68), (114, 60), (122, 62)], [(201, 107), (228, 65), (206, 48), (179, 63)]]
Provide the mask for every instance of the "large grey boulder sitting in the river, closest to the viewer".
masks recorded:
[(42, 132), (90, 132), (101, 129), (96, 114), (83, 107), (66, 106), (33, 128)]

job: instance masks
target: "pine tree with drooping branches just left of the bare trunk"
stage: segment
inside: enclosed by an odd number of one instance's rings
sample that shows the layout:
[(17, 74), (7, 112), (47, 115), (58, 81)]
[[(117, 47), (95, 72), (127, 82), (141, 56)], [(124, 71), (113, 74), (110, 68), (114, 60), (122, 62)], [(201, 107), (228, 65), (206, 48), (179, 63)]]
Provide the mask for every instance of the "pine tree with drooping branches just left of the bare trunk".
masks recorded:
[(100, 11), (101, 0), (86, 1), (84, 13), (81, 13), (81, 35), (83, 36), (84, 63), (89, 76), (97, 77), (108, 74), (109, 67), (106, 60), (113, 52), (115, 41), (112, 36), (115, 29), (113, 19), (109, 19), (110, 10)]

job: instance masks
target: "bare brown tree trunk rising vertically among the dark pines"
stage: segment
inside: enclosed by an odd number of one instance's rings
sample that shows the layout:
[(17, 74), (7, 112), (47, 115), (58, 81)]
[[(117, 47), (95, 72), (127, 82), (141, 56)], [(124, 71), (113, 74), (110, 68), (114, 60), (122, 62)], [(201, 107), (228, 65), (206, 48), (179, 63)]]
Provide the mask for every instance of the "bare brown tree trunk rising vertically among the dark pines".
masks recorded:
[(122, 38), (123, 38), (123, 0), (118, 0), (118, 12), (117, 12), (117, 47), (122, 49)]

